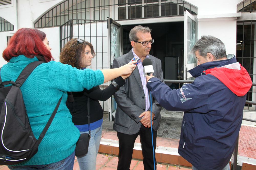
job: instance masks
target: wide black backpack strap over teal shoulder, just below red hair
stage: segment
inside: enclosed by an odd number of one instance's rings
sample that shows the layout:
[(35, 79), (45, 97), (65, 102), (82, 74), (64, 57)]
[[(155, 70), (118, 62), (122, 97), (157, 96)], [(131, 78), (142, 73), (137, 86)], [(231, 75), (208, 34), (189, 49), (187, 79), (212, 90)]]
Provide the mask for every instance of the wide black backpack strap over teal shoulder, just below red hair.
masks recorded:
[(18, 78), (16, 79), (15, 83), (17, 84), (17, 87), (20, 88), (24, 81), (28, 78), (30, 73), (40, 64), (47, 63), (47, 62), (40, 62), (40, 61), (34, 61), (29, 63), (19, 74)]

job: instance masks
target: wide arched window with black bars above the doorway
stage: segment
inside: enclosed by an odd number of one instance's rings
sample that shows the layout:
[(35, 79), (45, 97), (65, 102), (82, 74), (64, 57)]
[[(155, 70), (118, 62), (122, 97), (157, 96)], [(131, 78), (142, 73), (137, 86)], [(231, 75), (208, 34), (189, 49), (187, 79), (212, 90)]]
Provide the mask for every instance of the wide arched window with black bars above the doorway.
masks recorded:
[(61, 26), (71, 19), (114, 20), (182, 16), (197, 8), (182, 0), (66, 0), (47, 11), (35, 22), (35, 28)]

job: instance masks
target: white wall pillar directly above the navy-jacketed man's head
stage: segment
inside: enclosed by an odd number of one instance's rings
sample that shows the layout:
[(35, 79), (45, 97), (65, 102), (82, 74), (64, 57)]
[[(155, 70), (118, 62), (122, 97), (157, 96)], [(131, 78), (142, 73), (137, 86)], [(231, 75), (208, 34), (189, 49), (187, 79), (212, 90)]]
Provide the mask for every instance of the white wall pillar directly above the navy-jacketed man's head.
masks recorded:
[(227, 54), (236, 54), (237, 4), (242, 0), (187, 0), (198, 7), (197, 39), (202, 35), (213, 35), (226, 46)]

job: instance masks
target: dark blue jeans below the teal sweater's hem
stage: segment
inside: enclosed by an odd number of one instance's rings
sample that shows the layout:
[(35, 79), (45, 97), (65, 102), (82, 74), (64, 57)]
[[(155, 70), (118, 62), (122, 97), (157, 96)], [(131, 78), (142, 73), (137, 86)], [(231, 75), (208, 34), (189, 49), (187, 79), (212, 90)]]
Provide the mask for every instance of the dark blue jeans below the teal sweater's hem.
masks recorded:
[(73, 169), (75, 160), (75, 151), (71, 153), (65, 159), (46, 165), (23, 165), (23, 166), (8, 166), (9, 169), (22, 169), (22, 170), (35, 170), (35, 169), (54, 169), (54, 170), (66, 170)]

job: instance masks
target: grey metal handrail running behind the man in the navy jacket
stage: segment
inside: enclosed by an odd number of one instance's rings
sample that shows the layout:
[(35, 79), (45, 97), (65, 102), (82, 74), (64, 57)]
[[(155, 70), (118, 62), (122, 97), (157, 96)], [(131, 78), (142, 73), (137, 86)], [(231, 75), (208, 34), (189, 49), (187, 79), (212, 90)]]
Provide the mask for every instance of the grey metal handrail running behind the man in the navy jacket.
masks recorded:
[[(193, 81), (194, 80), (164, 80), (165, 83), (167, 83), (167, 82), (168, 83), (192, 83)], [(256, 86), (256, 83), (252, 83), (252, 86)], [(256, 102), (249, 101), (249, 100), (246, 100), (245, 103), (256, 105)], [(247, 119), (247, 118), (243, 118), (243, 120), (247, 120), (247, 121), (250, 121), (250, 122), (256, 122), (256, 120)], [(233, 170), (237, 169), (238, 140), (239, 140), (239, 135), (237, 137), (236, 146), (235, 146), (235, 149), (234, 149), (234, 152), (233, 152), (233, 155), (234, 155)]]

